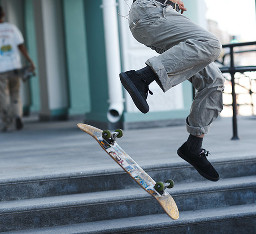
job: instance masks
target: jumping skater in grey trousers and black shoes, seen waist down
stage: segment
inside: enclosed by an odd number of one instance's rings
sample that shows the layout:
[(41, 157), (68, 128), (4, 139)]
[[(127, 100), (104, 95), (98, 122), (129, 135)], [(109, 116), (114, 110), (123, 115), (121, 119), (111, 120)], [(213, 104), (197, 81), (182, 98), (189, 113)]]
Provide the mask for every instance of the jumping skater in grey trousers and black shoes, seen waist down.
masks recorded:
[[(181, 13), (179, 11), (181, 10)], [(166, 92), (189, 80), (197, 89), (186, 119), (187, 141), (178, 155), (193, 165), (206, 179), (218, 181), (219, 174), (202, 149), (203, 136), (223, 109), (224, 77), (213, 63), (221, 53), (219, 40), (183, 16), (187, 11), (181, 0), (133, 0), (129, 27), (140, 43), (160, 53), (149, 58), (140, 70), (122, 72), (120, 80), (137, 108), (147, 113), (149, 84), (156, 81)]]

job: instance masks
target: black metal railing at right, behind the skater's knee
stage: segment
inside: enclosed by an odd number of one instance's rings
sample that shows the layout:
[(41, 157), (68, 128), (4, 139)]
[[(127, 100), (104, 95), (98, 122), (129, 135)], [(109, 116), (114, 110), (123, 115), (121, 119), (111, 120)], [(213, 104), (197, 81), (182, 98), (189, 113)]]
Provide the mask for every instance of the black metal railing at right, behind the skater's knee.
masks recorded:
[[(240, 73), (245, 73), (245, 72), (252, 72), (256, 71), (256, 65), (254, 66), (235, 66), (234, 62), (234, 54), (235, 53), (245, 53), (245, 52), (255, 52), (256, 50), (241, 50), (241, 51), (234, 51), (235, 47), (242, 47), (242, 46), (251, 46), (251, 45), (256, 45), (256, 42), (248, 42), (248, 43), (231, 43), (231, 44), (225, 44), (223, 45), (223, 48), (229, 48), (229, 53), (225, 54), (223, 56), (223, 61), (219, 62), (222, 64), (222, 67), (219, 67), (222, 73), (229, 73), (231, 75), (231, 85), (232, 85), (232, 107), (233, 107), (233, 137), (232, 140), (234, 139), (239, 139), (238, 136), (238, 131), (237, 131), (237, 102), (236, 102), (236, 96), (237, 94), (235, 93), (235, 73), (240, 72)], [(230, 55), (230, 64), (228, 66), (224, 65), (224, 58), (226, 55)], [(245, 87), (244, 87), (245, 88)], [(252, 90), (248, 90), (250, 95), (252, 95)], [(252, 103), (253, 106), (253, 103)]]

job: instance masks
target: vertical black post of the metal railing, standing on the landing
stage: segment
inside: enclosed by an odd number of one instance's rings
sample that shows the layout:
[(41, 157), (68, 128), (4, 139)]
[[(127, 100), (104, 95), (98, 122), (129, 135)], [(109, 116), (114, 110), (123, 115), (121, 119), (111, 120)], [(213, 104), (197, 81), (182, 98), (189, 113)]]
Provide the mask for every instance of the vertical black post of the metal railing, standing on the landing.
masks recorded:
[(237, 133), (237, 104), (236, 104), (236, 93), (235, 93), (235, 63), (234, 63), (234, 48), (230, 46), (230, 74), (232, 84), (232, 107), (233, 107), (233, 137), (231, 140), (239, 140)]

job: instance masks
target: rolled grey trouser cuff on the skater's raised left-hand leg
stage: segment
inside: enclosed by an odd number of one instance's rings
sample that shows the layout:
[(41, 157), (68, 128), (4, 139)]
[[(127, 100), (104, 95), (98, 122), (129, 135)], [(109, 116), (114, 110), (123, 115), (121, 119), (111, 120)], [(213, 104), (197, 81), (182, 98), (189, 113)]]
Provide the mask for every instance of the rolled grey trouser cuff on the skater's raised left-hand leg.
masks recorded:
[(158, 76), (158, 79), (155, 81), (164, 92), (171, 89), (172, 86), (170, 78), (168, 77), (168, 74), (159, 58), (157, 58), (156, 56), (153, 58), (149, 58), (145, 62), (145, 64), (147, 64), (154, 70), (155, 74)]

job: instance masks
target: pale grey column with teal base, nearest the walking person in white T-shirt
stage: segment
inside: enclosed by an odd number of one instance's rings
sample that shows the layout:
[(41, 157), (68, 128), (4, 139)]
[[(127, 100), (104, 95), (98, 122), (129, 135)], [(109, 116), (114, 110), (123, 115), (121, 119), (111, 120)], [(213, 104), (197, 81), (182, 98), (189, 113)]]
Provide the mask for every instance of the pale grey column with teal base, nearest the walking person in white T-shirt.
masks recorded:
[(36, 0), (40, 120), (66, 119), (69, 97), (61, 0)]

